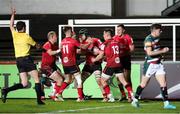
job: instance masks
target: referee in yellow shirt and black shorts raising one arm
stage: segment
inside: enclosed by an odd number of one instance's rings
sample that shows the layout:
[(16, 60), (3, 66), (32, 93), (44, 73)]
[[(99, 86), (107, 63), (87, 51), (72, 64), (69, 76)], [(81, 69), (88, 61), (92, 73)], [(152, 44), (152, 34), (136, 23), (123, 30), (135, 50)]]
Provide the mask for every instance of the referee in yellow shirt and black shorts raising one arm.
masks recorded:
[(13, 37), (13, 44), (15, 49), (15, 57), (16, 57), (16, 65), (19, 71), (21, 83), (17, 83), (11, 87), (4, 88), (1, 91), (1, 98), (2, 101), (6, 102), (7, 94), (10, 91), (14, 91), (17, 89), (23, 89), (28, 86), (28, 74), (31, 75), (35, 81), (35, 91), (37, 94), (37, 104), (43, 105), (44, 102), (41, 101), (41, 84), (40, 79), (38, 76), (38, 71), (36, 69), (36, 65), (34, 64), (31, 56), (30, 56), (30, 48), (31, 46), (36, 46), (37, 43), (25, 33), (26, 25), (24, 22), (19, 21), (16, 24), (17, 31), (14, 29), (14, 16), (15, 16), (15, 9), (12, 9), (12, 15), (10, 20), (10, 29)]

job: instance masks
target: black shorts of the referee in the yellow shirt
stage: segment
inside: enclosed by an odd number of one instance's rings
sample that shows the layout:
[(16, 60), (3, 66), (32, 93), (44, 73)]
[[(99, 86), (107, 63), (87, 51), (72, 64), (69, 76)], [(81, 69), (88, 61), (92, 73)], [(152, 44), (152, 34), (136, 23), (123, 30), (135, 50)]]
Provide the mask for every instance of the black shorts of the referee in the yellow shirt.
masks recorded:
[(16, 58), (16, 65), (19, 73), (37, 70), (34, 61), (30, 56)]

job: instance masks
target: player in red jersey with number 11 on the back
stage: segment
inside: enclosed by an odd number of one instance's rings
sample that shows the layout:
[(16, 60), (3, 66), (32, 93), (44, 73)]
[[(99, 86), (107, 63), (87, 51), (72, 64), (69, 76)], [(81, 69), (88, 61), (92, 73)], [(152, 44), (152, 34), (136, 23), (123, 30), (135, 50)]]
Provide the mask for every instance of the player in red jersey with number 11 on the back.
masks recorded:
[(61, 60), (62, 66), (65, 73), (65, 80), (62, 83), (59, 92), (56, 96), (62, 98), (62, 92), (72, 82), (72, 79), (76, 80), (78, 86), (78, 99), (77, 102), (84, 101), (84, 95), (82, 90), (82, 80), (80, 69), (76, 63), (77, 49), (83, 48), (80, 43), (72, 38), (72, 27), (64, 27), (65, 38), (61, 41)]

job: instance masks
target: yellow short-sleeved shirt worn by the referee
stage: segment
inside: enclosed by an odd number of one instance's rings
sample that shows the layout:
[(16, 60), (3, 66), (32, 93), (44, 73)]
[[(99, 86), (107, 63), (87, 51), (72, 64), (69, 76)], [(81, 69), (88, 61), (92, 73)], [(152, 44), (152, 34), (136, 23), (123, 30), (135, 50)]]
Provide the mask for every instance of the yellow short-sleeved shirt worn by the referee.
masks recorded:
[(26, 33), (12, 31), (13, 44), (15, 49), (15, 57), (25, 57), (30, 54), (31, 46), (35, 46), (36, 42)]

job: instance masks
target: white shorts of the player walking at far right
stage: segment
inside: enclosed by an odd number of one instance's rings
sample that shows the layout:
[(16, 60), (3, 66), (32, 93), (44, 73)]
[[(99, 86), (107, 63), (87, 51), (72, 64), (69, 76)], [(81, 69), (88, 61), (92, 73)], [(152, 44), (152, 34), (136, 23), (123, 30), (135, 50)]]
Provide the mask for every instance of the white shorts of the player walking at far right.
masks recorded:
[(164, 65), (162, 63), (159, 64), (150, 64), (145, 72), (146, 77), (151, 77), (155, 75), (165, 75), (166, 72), (164, 70)]

